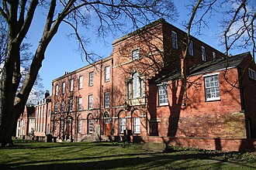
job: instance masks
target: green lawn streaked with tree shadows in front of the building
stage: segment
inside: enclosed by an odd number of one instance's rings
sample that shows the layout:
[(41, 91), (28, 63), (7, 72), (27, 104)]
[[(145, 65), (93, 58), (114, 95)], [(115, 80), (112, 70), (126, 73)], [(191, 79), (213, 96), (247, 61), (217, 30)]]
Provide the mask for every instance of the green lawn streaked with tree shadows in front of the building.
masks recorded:
[(254, 153), (171, 148), (145, 151), (123, 143), (16, 141), (0, 148), (0, 169), (255, 169)]

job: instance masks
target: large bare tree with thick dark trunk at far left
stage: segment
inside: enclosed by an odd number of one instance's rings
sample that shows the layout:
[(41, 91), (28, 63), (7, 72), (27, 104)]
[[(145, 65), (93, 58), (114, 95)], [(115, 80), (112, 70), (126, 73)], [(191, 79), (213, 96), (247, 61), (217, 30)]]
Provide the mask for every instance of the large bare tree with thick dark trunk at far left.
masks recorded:
[[(18, 90), (21, 80), (21, 45), (28, 34), (38, 6), (46, 8), (47, 18), (25, 80)], [(133, 28), (137, 28), (140, 24), (147, 24), (151, 19), (160, 17), (170, 19), (176, 15), (175, 7), (170, 0), (51, 0), (50, 3), (43, 0), (40, 2), (38, 0), (31, 0), (31, 2), (3, 0), (0, 12), (4, 19), (3, 24), (8, 26), (8, 46), (0, 83), (0, 143), (2, 147), (12, 145), (12, 128), (24, 109), (29, 92), (42, 66), (45, 51), (57, 34), (61, 23), (67, 23), (74, 29), (74, 36), (80, 42), (85, 59), (89, 60), (94, 56), (86, 50), (84, 36), (79, 34), (78, 26), (92, 29), (88, 25), (91, 18), (99, 21), (97, 27), (99, 36), (105, 36), (109, 32), (115, 33), (123, 29), (127, 23), (132, 23)]]

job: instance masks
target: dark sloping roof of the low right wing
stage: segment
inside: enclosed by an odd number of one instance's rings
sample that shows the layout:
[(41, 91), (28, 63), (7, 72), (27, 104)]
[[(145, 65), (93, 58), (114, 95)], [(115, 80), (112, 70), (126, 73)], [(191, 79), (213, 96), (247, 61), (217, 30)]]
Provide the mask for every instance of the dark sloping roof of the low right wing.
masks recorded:
[[(195, 76), (203, 73), (210, 73), (213, 71), (223, 70), (225, 68), (235, 68), (237, 67), (246, 56), (251, 55), (250, 52), (247, 53), (241, 53), (236, 56), (231, 56), (228, 59), (216, 59), (215, 61), (209, 61), (206, 63), (199, 64), (197, 66), (192, 66), (189, 69), (189, 75), (188, 76)], [(181, 72), (180, 70), (171, 70), (170, 72), (162, 75), (161, 77), (158, 77), (156, 80), (154, 80), (155, 83), (161, 83), (166, 82), (168, 80), (175, 80), (181, 78)]]

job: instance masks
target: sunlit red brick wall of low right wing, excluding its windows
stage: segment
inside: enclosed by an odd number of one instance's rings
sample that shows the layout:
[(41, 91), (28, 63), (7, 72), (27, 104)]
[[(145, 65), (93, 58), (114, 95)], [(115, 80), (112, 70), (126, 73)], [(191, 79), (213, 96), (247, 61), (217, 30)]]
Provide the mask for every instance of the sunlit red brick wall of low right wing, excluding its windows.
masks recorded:
[[(157, 100), (151, 100), (156, 110), (159, 136), (192, 138), (246, 138), (245, 116), (240, 106), (240, 90), (233, 88), (224, 80), (223, 71), (219, 73), (220, 100), (206, 101), (202, 75), (190, 76), (188, 99), (182, 100), (181, 81), (169, 82), (168, 106), (159, 106)], [(229, 80), (237, 80), (237, 69), (227, 71)], [(153, 85), (154, 86), (154, 85)], [(154, 90), (157, 90), (153, 87)], [(231, 90), (232, 89), (232, 90)], [(152, 92), (154, 93), (154, 92)], [(157, 93), (157, 92), (155, 92)], [(183, 106), (182, 104), (186, 104)], [(155, 107), (155, 108), (154, 108)], [(151, 114), (152, 113), (152, 114)], [(151, 130), (154, 131), (154, 130)]]

